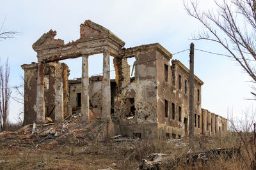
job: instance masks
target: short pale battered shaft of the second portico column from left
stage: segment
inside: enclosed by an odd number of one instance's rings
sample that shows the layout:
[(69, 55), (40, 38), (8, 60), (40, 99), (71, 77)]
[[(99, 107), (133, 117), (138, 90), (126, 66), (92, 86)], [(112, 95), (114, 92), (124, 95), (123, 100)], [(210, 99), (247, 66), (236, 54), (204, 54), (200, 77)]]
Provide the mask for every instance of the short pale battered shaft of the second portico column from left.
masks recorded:
[(56, 123), (63, 122), (63, 82), (61, 77), (55, 77), (55, 120)]

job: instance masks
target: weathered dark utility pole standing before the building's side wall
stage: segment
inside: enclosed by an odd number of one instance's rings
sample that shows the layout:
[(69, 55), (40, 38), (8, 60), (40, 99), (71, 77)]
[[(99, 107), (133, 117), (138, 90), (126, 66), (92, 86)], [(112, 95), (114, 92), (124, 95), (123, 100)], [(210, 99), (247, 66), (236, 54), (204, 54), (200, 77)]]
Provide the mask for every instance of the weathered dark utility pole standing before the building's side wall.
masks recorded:
[(189, 145), (194, 151), (194, 44), (189, 52)]

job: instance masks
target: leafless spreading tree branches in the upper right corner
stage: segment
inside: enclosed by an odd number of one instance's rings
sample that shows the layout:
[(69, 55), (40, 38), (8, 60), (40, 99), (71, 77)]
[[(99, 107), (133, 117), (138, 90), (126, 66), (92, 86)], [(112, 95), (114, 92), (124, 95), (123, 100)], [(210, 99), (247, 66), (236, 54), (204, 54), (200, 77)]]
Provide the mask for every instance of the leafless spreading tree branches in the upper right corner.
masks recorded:
[[(192, 39), (214, 41), (223, 46), (256, 82), (256, 0), (214, 0), (214, 10), (200, 11), (198, 1), (184, 0), (184, 7), (204, 31)], [(253, 94), (253, 93), (252, 93)], [(253, 94), (256, 96), (256, 94)]]

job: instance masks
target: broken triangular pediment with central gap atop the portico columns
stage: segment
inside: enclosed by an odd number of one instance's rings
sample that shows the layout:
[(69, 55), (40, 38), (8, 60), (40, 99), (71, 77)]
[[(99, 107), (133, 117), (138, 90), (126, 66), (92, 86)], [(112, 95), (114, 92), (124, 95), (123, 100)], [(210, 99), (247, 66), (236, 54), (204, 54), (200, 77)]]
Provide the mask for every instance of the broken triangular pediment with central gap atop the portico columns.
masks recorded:
[(120, 57), (119, 51), (125, 45), (122, 39), (105, 27), (86, 20), (80, 25), (80, 38), (64, 44), (62, 39), (55, 39), (56, 31), (43, 34), (34, 44), (38, 62), (81, 57), (108, 51), (114, 57)]

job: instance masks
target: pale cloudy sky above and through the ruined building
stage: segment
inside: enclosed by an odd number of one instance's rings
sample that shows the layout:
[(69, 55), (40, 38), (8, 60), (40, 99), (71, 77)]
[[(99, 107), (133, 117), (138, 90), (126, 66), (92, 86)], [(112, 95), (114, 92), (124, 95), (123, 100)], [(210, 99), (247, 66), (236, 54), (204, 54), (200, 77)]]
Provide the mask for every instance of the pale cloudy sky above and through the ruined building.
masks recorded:
[[(202, 8), (211, 1), (200, 2)], [(207, 3), (207, 4), (206, 4)], [(208, 41), (191, 41), (189, 38), (202, 29), (194, 18), (188, 16), (182, 1), (1, 1), (0, 23), (4, 31), (19, 31), (15, 39), (0, 41), (1, 62), (9, 58), (11, 86), (19, 85), (24, 71), (22, 64), (36, 62), (36, 52), (31, 47), (50, 29), (57, 31), (56, 38), (68, 41), (79, 38), (79, 25), (84, 20), (100, 24), (125, 41), (125, 48), (160, 43), (169, 52), (176, 53), (195, 48), (216, 53), (226, 53), (221, 46)], [(189, 51), (173, 55), (189, 67)], [(64, 60), (70, 67), (70, 78), (81, 77), (81, 58)], [(112, 62), (112, 61), (111, 61)], [(129, 60), (132, 64), (132, 60)], [(113, 66), (111, 70), (114, 69)], [(102, 72), (102, 55), (89, 57), (89, 74)], [(227, 118), (233, 110), (239, 117), (244, 110), (252, 109), (250, 78), (234, 60), (220, 55), (195, 51), (195, 74), (202, 81), (202, 108)], [(115, 73), (111, 74), (111, 78)], [(15, 92), (12, 93), (15, 96)], [(10, 120), (15, 122), (22, 108), (12, 101)]]

